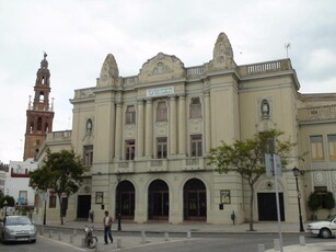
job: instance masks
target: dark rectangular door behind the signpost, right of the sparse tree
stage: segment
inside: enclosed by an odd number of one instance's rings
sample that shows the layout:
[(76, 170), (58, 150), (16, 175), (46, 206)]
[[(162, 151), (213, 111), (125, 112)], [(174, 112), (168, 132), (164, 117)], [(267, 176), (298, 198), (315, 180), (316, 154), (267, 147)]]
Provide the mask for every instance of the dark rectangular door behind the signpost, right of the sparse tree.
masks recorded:
[[(276, 193), (258, 193), (259, 220), (278, 220)], [(280, 220), (285, 221), (283, 193), (279, 193)]]

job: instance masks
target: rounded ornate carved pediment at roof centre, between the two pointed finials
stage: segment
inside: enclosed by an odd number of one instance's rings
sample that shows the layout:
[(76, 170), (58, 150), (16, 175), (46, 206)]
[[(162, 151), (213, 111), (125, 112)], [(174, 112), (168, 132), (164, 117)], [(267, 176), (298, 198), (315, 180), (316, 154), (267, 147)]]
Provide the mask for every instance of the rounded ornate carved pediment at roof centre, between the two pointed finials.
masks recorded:
[(142, 65), (139, 82), (178, 79), (186, 76), (184, 64), (175, 56), (159, 53)]

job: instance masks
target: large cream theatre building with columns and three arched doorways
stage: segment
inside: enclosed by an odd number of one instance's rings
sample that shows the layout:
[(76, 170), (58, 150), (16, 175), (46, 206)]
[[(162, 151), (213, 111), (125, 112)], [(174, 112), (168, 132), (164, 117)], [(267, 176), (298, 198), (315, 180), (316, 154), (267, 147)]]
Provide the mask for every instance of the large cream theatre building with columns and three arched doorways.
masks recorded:
[[(277, 220), (278, 191), (281, 220), (298, 221), (293, 167), (312, 171), (299, 177), (305, 220), (304, 191), (328, 182), (327, 190), (334, 192), (334, 179), (327, 179), (334, 173), (313, 172), (324, 167), (322, 160), (296, 157), (303, 151), (311, 157), (313, 136), (334, 139), (329, 135), (336, 134), (336, 117), (334, 94), (304, 95), (299, 89), (290, 59), (237, 66), (224, 33), (216, 41), (212, 59), (200, 66), (185, 67), (176, 56), (159, 53), (137, 76), (120, 77), (109, 54), (96, 85), (76, 90), (70, 100), (72, 130), (62, 139), (48, 134), (37, 159), (46, 147), (73, 148), (88, 167), (81, 190), (68, 201), (71, 220), (88, 218), (90, 209), (100, 219), (108, 209), (136, 222), (231, 224), (233, 213), (236, 222), (244, 222), (251, 210), (248, 185), (236, 173), (217, 173), (206, 157), (222, 141), (278, 129), (298, 146), (291, 163), (282, 168), (278, 190), (266, 174), (255, 184), (254, 220)], [(321, 107), (329, 107), (325, 123), (318, 118), (325, 112)], [(58, 213), (57, 205), (54, 208)], [(53, 209), (49, 213), (54, 216)]]

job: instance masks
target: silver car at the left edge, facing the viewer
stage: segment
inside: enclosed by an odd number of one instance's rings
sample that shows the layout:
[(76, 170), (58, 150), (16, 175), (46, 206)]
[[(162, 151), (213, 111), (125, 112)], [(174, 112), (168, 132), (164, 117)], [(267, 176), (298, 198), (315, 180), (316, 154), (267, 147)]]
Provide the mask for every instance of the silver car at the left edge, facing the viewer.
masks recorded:
[(0, 220), (0, 240), (36, 242), (36, 227), (26, 216), (4, 216)]

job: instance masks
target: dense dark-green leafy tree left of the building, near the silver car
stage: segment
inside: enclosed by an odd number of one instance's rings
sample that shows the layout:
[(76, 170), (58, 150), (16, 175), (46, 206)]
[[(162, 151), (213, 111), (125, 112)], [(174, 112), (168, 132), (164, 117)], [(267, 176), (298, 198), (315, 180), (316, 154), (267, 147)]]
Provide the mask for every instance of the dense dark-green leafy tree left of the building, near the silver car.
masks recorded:
[(63, 225), (63, 203), (62, 194), (67, 197), (78, 192), (82, 182), (84, 168), (81, 159), (73, 150), (61, 150), (51, 153), (47, 150), (47, 154), (43, 160), (43, 165), (31, 172), (30, 184), (33, 188), (46, 192), (47, 190), (56, 193), (59, 202), (60, 222)]

